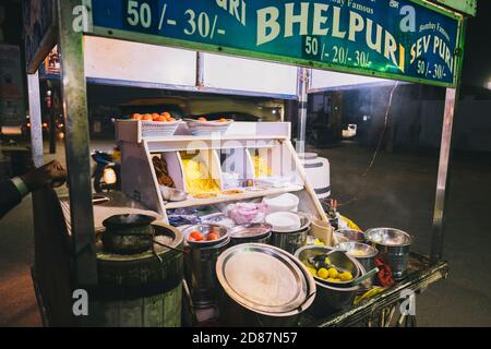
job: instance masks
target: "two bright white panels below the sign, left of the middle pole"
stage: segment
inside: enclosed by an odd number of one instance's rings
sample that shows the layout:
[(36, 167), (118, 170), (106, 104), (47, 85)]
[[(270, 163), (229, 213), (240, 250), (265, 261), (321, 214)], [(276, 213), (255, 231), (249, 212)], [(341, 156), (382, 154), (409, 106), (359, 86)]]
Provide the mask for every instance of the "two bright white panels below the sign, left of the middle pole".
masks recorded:
[[(89, 82), (194, 91), (196, 52), (156, 45), (86, 37), (85, 75)], [(295, 67), (219, 55), (203, 55), (204, 92), (297, 97)]]

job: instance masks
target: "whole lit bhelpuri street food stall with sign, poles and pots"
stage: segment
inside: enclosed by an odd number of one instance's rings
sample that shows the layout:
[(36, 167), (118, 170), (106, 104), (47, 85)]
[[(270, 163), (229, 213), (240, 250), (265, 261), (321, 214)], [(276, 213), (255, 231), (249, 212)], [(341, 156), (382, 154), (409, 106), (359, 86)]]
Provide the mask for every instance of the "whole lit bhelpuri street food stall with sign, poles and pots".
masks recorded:
[[(34, 196), (46, 325), (416, 324), (398, 305), (447, 276), (452, 122), (476, 1), (48, 3), (57, 20), (27, 55), (33, 157), (43, 164), (36, 74), (58, 43), (69, 196)], [(380, 80), (446, 88), (430, 256), (402, 230), (360, 231), (319, 200), (300, 159), (308, 94)], [(296, 99), (296, 144), (283, 118), (135, 112), (116, 122), (121, 191), (94, 195), (87, 81)]]

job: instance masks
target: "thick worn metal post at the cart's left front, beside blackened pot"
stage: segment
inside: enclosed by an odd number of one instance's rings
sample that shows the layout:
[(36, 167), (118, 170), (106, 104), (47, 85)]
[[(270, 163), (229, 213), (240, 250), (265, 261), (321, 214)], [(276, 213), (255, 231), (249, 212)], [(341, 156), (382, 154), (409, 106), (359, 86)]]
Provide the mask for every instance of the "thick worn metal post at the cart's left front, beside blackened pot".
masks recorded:
[(77, 286), (97, 284), (83, 34), (72, 26), (80, 0), (58, 0), (65, 153)]

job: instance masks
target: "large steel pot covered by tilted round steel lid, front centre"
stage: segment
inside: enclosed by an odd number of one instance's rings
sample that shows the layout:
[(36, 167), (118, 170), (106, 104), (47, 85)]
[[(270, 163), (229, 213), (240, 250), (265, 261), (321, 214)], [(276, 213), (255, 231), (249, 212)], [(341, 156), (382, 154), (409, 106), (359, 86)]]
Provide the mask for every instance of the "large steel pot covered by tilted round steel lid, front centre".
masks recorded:
[(228, 249), (218, 257), (216, 274), (225, 326), (298, 326), (315, 298), (307, 268), (291, 254), (262, 243)]

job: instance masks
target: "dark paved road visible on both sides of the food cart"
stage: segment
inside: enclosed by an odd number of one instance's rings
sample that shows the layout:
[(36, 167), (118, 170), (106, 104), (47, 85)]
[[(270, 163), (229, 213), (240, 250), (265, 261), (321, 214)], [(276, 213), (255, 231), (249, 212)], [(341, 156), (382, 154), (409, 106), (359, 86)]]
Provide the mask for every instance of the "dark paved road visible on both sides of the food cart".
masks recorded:
[[(94, 145), (100, 147), (100, 144)], [(392, 226), (429, 252), (436, 158), (372, 152), (349, 144), (321, 152), (331, 160), (333, 195), (362, 228)], [(445, 258), (451, 277), (418, 297), (421, 326), (491, 326), (491, 159), (456, 156), (447, 210)], [(29, 278), (33, 261), (28, 197), (0, 221), (0, 326), (39, 326)]]

